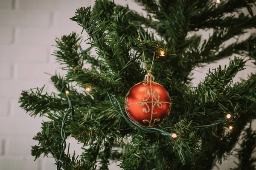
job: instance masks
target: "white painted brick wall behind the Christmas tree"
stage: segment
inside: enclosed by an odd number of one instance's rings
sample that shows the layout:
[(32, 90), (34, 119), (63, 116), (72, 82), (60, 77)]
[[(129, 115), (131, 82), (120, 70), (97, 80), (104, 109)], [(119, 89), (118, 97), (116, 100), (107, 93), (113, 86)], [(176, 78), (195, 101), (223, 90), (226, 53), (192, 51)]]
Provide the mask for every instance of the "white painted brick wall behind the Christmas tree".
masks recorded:
[[(214, 0), (213, 0), (214, 1)], [(131, 0), (115, 0), (145, 14), (141, 7)], [(81, 27), (70, 21), (77, 8), (93, 6), (94, 0), (0, 0), (0, 170), (55, 170), (53, 158), (39, 158), (34, 161), (31, 146), (37, 144), (32, 138), (41, 131), (41, 122), (45, 118), (30, 117), (19, 108), (18, 98), (22, 90), (43, 87), (46, 91), (55, 91), (49, 74), (65, 74), (51, 56), (55, 47), (55, 38), (72, 31), (81, 33)], [(253, 8), (256, 14), (256, 8)], [(244, 12), (248, 14), (247, 9)], [(199, 31), (207, 39), (212, 30)], [(239, 41), (255, 30), (237, 37)], [(86, 34), (83, 34), (87, 39)], [(231, 40), (232, 41), (236, 41)], [(227, 43), (230, 43), (227, 42)], [(85, 42), (82, 47), (89, 45)], [(233, 56), (232, 56), (233, 57)], [(222, 59), (204, 68), (193, 71), (193, 85), (196, 86), (207, 70), (218, 65), (228, 65), (229, 59)], [(247, 62), (246, 70), (239, 72), (235, 81), (246, 79), (247, 74), (255, 72), (253, 64)], [(46, 74), (47, 73), (47, 74)], [(254, 124), (256, 127), (256, 124)], [(82, 144), (69, 139), (70, 153), (81, 153)], [(230, 156), (223, 162), (221, 170), (234, 167), (236, 158)], [(113, 162), (109, 169), (120, 170), (118, 162)], [(217, 167), (215, 167), (217, 170)]]

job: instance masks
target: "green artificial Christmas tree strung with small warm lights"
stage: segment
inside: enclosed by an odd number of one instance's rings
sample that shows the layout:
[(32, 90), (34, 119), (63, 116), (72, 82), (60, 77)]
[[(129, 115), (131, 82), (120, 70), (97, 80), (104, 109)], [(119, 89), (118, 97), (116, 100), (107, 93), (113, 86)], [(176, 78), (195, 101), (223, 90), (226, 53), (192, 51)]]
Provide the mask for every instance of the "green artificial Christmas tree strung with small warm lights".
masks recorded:
[[(22, 91), (19, 100), (30, 116), (49, 118), (33, 138), (38, 145), (32, 147), (32, 155), (52, 156), (58, 170), (106, 170), (111, 160), (120, 161), (124, 170), (210, 170), (235, 155), (239, 162), (231, 169), (254, 170), (256, 75), (237, 83), (233, 77), (247, 60), (256, 63), (256, 35), (224, 43), (255, 28), (251, 8), (256, 0), (136, 2), (147, 16), (108, 0), (81, 7), (71, 20), (88, 39), (73, 32), (55, 40), (54, 56), (67, 70), (64, 77), (51, 77), (58, 93), (48, 94), (43, 86)], [(204, 40), (198, 30), (208, 29), (212, 34)], [(82, 49), (83, 41), (90, 48)], [(96, 55), (90, 53), (93, 50)], [(209, 70), (192, 87), (195, 67), (230, 56), (229, 65)], [(145, 89), (142, 93), (157, 102), (138, 102), (143, 110), (134, 111), (128, 104), (133, 93), (129, 89), (145, 75), (150, 87), (162, 85), (161, 93), (166, 89), (167, 102), (161, 102), (160, 92)], [(135, 92), (135, 97), (144, 97)], [(137, 122), (136, 116), (146, 115), (147, 109), (152, 110), (151, 118), (155, 113), (160, 118)], [(68, 137), (86, 147), (79, 157), (67, 151)]]

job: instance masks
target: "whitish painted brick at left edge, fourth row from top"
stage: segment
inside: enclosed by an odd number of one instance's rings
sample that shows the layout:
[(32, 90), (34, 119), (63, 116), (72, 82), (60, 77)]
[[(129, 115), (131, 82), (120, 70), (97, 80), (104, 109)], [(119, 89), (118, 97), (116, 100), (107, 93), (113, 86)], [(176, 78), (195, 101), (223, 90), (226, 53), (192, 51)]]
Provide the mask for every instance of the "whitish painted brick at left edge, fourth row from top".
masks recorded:
[(47, 46), (0, 45), (0, 51), (0, 62), (47, 62), (49, 57)]

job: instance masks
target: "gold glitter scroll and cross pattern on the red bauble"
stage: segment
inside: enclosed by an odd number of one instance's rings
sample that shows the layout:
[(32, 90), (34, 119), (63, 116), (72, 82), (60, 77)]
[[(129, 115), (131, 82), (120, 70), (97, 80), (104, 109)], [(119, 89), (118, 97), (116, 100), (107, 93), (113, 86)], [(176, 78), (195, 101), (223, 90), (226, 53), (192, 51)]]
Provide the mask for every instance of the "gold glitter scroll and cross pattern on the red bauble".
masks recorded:
[[(159, 95), (159, 93), (157, 91), (153, 91), (151, 83), (153, 83), (154, 85), (160, 85), (159, 83), (153, 82), (153, 81), (143, 82), (142, 84), (145, 85), (145, 86), (148, 85), (148, 84), (150, 85), (150, 90), (145, 89), (145, 93), (148, 95), (148, 98), (147, 99), (143, 98), (142, 99), (143, 102), (134, 102), (134, 103), (129, 103), (128, 104), (128, 94), (130, 94), (130, 91), (128, 91), (128, 93), (126, 94), (126, 97), (125, 97), (125, 111), (126, 111), (126, 113), (127, 113), (129, 118), (130, 118), (130, 113), (128, 112), (128, 110), (129, 110), (128, 106), (129, 105), (137, 105), (137, 104), (139, 104), (139, 105), (145, 106), (143, 108), (143, 110), (142, 110), (144, 113), (149, 113), (150, 112), (150, 114), (151, 114), (150, 120), (144, 119), (142, 121), (143, 123), (148, 123), (149, 125), (148, 126), (143, 126), (143, 127), (153, 127), (153, 126), (155, 126), (154, 124), (156, 122), (160, 122), (161, 121), (159, 118), (152, 120), (153, 114), (157, 114), (157, 112), (154, 112), (154, 107), (155, 106), (157, 106), (158, 108), (163, 108), (163, 104), (162, 103), (168, 103), (169, 104), (169, 108), (170, 108), (169, 112), (168, 112), (168, 115), (169, 115), (169, 113), (171, 111), (171, 108), (172, 108), (172, 103), (171, 102), (161, 102), (160, 101), (160, 95)], [(140, 84), (140, 83), (137, 83), (136, 85), (138, 85), (138, 84)], [(155, 95), (157, 95), (157, 97)], [(150, 98), (151, 98), (151, 101), (150, 101)], [(151, 111), (150, 111), (150, 107), (148, 106), (149, 103), (151, 103)], [(165, 119), (166, 118), (164, 118), (161, 122), (163, 122)], [(137, 122), (137, 121), (135, 123), (140, 125), (139, 122)], [(140, 125), (140, 126), (142, 126), (142, 125)]]

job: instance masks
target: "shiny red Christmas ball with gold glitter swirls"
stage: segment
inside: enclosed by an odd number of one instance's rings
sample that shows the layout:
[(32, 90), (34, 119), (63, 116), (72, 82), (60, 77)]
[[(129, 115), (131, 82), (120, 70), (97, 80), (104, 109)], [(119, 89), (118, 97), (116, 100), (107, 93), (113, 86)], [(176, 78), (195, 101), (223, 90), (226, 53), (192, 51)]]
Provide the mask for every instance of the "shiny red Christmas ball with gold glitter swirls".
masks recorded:
[(128, 117), (143, 127), (153, 127), (163, 122), (172, 107), (169, 93), (162, 85), (144, 81), (134, 85), (125, 96)]

